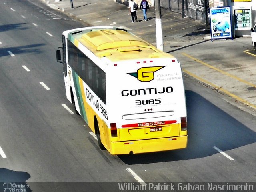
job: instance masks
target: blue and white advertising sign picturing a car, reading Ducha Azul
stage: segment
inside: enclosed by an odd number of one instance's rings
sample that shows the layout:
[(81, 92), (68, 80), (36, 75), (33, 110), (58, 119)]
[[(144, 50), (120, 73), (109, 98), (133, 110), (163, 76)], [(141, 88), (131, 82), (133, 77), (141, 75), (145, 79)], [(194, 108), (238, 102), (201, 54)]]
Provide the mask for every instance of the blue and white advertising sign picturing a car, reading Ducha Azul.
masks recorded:
[(212, 40), (232, 38), (230, 7), (210, 8), (210, 21)]

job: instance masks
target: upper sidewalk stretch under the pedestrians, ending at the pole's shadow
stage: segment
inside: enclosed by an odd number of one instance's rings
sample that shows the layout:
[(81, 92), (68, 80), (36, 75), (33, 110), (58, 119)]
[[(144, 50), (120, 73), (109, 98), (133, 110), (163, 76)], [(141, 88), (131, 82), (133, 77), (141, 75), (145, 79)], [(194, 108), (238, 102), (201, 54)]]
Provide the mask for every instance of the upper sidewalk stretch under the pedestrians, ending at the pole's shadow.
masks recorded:
[[(130, 30), (140, 38), (156, 45), (156, 25), (154, 7), (148, 13), (148, 21), (143, 20), (142, 10), (137, 10), (138, 22), (132, 23), (128, 6), (113, 0), (40, 0), (55, 10), (61, 10), (77, 20), (83, 21), (88, 26), (118, 26)], [(171, 50), (204, 41), (209, 36), (206, 25), (191, 18), (182, 18), (176, 12), (162, 9), (162, 31), (164, 51)]]

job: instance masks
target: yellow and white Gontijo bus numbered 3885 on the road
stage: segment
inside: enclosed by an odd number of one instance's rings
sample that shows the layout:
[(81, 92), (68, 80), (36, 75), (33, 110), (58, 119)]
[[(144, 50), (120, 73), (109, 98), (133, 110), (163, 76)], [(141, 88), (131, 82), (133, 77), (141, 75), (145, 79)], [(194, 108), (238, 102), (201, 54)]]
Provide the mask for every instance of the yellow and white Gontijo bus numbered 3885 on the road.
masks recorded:
[(186, 100), (176, 58), (106, 26), (64, 31), (56, 57), (66, 97), (101, 149), (136, 154), (186, 148)]

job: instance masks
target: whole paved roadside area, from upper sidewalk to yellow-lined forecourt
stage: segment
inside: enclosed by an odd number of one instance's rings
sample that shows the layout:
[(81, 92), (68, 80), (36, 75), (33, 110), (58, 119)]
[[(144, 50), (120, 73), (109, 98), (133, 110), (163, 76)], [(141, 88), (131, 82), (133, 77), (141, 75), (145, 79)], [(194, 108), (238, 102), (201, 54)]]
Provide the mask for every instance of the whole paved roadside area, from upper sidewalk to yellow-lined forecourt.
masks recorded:
[[(39, 1), (84, 22), (85, 26), (123, 27), (156, 45), (153, 7), (148, 11), (148, 21), (143, 20), (139, 9), (138, 22), (132, 23), (128, 7), (113, 0), (73, 0), (74, 8), (70, 0)], [(251, 38), (211, 42), (209, 26), (182, 18), (176, 12), (164, 9), (161, 12), (164, 51), (178, 58), (183, 72), (228, 95), (229, 102), (256, 115), (256, 53), (252, 50)]]

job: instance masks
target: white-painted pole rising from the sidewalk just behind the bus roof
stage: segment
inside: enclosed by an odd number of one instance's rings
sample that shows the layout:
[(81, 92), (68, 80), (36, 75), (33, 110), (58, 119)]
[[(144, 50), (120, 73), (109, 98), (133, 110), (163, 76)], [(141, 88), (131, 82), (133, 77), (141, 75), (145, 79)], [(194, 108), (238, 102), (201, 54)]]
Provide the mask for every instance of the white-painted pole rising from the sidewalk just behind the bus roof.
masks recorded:
[(155, 0), (155, 13), (156, 13), (156, 48), (158, 48), (161, 51), (164, 51), (160, 0)]

